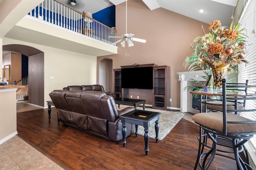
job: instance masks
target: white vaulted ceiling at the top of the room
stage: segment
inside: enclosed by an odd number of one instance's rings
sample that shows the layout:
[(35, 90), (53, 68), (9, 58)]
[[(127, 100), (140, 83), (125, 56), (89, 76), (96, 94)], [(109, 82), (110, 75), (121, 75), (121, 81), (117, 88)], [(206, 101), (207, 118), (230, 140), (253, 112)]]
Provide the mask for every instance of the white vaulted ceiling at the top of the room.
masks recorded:
[[(59, 0), (71, 6), (70, 0)], [(126, 0), (76, 0), (72, 8), (80, 12), (96, 13), (112, 5), (118, 5)], [(129, 0), (128, 0), (129, 1)], [(238, 0), (142, 0), (150, 10), (165, 8), (184, 16), (210, 23), (220, 20), (222, 25), (229, 26)], [(129, 2), (127, 2), (129, 3)], [(199, 10), (204, 10), (200, 13)], [(234, 16), (236, 17), (236, 16)]]

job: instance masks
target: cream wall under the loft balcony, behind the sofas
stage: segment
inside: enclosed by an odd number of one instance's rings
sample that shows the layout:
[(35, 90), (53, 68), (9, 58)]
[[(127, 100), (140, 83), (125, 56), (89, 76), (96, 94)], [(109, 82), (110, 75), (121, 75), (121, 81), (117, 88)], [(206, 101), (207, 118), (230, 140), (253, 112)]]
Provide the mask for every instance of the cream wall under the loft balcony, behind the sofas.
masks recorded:
[(46, 101), (50, 100), (52, 90), (69, 85), (96, 84), (97, 61), (94, 56), (4, 38), (2, 45), (8, 44), (28, 45), (44, 52), (44, 107), (47, 107)]

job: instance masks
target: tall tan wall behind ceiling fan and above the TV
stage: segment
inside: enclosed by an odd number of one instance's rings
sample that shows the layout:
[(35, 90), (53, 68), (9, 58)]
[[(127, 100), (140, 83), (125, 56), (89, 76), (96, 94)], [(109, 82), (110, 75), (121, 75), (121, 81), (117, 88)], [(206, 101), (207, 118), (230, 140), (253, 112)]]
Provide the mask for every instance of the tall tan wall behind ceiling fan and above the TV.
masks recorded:
[[(146, 39), (147, 42), (134, 42), (134, 46), (128, 49), (129, 56), (125, 55), (126, 49), (118, 43), (118, 54), (107, 57), (113, 60), (113, 68), (134, 63), (170, 66), (170, 107), (180, 108), (180, 82), (177, 72), (187, 71), (182, 63), (190, 55), (190, 43), (195, 37), (202, 36), (201, 25), (208, 32), (208, 23), (163, 8), (151, 11), (143, 1), (129, 0), (127, 4), (127, 32), (135, 34), (136, 38)], [(117, 36), (125, 33), (125, 24), (124, 2), (116, 6)], [(97, 58), (98, 65), (105, 57)]]

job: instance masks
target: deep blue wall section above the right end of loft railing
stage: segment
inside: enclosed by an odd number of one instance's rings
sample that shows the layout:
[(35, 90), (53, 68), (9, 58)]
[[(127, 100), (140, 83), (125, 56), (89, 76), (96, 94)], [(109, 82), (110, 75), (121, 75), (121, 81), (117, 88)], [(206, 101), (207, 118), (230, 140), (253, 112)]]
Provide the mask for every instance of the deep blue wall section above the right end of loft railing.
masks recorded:
[(108, 8), (100, 10), (92, 14), (92, 18), (97, 20), (108, 27), (115, 27), (116, 26), (116, 6), (112, 5)]

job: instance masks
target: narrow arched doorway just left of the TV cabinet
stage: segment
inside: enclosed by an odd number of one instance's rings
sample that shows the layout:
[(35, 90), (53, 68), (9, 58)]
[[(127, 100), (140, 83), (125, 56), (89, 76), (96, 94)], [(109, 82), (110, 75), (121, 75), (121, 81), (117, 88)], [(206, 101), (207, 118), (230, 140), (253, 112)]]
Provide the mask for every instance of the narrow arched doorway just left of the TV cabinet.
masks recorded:
[(112, 59), (104, 58), (99, 62), (99, 84), (104, 87), (105, 92), (111, 92), (113, 88), (113, 66)]

